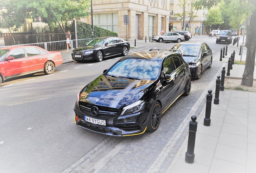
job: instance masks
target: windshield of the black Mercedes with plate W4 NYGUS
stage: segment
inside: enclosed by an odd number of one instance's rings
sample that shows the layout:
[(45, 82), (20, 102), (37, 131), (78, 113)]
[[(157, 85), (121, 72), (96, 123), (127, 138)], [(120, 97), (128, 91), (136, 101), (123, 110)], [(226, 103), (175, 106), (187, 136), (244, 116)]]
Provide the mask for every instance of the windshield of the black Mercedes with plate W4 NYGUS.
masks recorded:
[(140, 80), (156, 80), (161, 69), (161, 61), (147, 59), (124, 59), (113, 66), (107, 75), (135, 78)]

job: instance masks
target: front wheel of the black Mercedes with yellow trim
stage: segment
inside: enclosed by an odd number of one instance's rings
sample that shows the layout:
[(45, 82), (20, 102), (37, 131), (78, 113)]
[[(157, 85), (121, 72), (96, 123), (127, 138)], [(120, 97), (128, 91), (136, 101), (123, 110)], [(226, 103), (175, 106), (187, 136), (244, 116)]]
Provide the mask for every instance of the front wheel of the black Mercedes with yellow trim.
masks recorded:
[(159, 127), (160, 121), (161, 121), (161, 105), (159, 102), (155, 102), (150, 111), (149, 111), (149, 118), (148, 118), (148, 131), (154, 132)]

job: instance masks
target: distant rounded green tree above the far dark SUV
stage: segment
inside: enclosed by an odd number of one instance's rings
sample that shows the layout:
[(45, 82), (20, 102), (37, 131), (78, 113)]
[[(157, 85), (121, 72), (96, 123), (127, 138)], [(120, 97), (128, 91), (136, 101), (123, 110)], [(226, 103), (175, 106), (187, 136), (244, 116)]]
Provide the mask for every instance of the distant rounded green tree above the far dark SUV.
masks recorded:
[(221, 12), (219, 8), (210, 9), (207, 15), (207, 19), (204, 21), (205, 25), (212, 25), (212, 28), (219, 28), (220, 24), (223, 24)]

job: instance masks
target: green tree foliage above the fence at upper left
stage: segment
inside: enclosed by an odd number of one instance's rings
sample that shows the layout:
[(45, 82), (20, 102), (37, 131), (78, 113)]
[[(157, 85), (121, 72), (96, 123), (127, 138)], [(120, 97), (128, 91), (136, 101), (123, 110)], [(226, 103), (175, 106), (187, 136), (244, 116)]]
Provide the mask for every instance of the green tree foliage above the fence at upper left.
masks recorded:
[(0, 28), (17, 30), (26, 19), (41, 16), (50, 28), (60, 26), (63, 32), (69, 20), (85, 18), (90, 13), (90, 0), (4, 0), (0, 3), (2, 18)]

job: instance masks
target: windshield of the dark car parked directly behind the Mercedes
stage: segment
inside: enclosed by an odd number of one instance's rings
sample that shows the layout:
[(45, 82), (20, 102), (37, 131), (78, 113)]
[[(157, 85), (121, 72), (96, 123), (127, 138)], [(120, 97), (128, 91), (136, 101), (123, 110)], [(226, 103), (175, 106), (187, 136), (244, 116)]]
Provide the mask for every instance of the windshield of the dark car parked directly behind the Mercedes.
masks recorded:
[(199, 56), (200, 45), (177, 44), (172, 49), (183, 50), (183, 55)]

